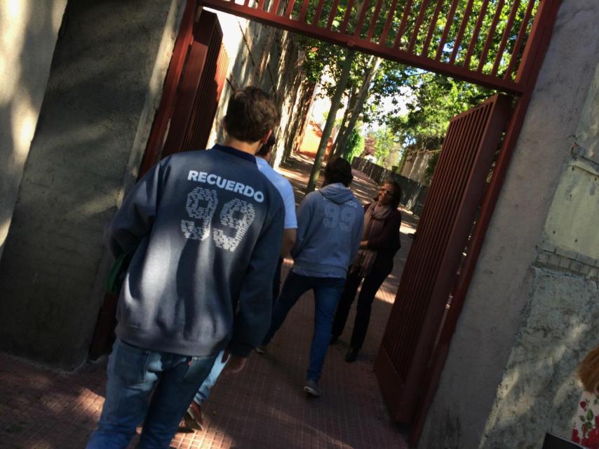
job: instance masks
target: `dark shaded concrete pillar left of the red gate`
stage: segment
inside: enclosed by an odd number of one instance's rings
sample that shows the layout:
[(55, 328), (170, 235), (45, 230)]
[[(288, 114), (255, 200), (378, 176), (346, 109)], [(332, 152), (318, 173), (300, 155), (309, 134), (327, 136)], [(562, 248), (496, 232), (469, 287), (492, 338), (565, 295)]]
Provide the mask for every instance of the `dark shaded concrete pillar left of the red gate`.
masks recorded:
[(69, 1), (0, 261), (0, 349), (86, 358), (111, 262), (102, 233), (135, 180), (183, 4)]

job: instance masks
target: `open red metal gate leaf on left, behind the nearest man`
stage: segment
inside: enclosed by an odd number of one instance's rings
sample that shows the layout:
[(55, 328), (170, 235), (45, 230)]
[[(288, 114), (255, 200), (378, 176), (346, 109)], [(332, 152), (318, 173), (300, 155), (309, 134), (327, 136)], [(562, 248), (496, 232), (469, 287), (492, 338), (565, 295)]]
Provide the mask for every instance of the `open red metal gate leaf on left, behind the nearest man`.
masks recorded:
[[(189, 0), (148, 138), (140, 177), (163, 157), (188, 149), (204, 149), (208, 143), (229, 58), (222, 47), (222, 29), (217, 15), (202, 11), (198, 17), (197, 12), (196, 1)], [(90, 345), (91, 359), (110, 350), (118, 299), (111, 293), (105, 295)]]

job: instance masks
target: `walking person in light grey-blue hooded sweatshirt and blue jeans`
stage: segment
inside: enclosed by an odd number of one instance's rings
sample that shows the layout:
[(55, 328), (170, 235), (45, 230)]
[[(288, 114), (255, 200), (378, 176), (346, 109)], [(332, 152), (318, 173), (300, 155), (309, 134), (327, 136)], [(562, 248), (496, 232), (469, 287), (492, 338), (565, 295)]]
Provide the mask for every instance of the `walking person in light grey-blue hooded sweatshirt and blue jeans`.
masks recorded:
[(307, 290), (314, 290), (314, 336), (304, 391), (321, 396), (318, 380), (327, 353), (332, 319), (344, 288), (347, 268), (358, 253), (363, 208), (349, 189), (354, 177), (344, 159), (325, 167), (325, 182), (307, 194), (297, 209), (297, 237), (291, 250), (294, 264), (273, 309), (272, 321), (259, 353), (281, 327), (290, 309)]

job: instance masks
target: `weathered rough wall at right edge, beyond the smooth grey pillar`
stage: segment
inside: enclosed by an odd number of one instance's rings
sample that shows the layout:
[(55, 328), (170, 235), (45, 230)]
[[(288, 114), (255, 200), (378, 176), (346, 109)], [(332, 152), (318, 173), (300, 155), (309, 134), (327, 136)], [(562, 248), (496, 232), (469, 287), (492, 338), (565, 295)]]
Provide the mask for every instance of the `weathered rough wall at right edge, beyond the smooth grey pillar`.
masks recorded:
[(537, 448), (543, 431), (569, 436), (577, 418), (581, 385), (574, 371), (598, 342), (599, 164), (593, 150), (599, 141), (598, 123), (599, 65), (549, 208), (531, 269), (525, 323), (481, 448), (500, 447), (507, 438), (518, 448)]

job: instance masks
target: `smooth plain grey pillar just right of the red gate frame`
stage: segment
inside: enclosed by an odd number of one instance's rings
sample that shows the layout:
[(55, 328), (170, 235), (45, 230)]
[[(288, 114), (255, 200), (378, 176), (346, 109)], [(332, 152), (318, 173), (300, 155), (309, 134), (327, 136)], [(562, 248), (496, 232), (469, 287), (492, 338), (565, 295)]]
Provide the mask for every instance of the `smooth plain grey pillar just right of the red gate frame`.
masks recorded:
[[(595, 0), (563, 1), (420, 448), (480, 445), (516, 335), (527, 319), (534, 281), (530, 267), (599, 62), (598, 22)], [(538, 424), (518, 426), (536, 438)]]

